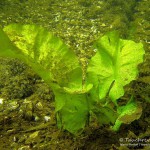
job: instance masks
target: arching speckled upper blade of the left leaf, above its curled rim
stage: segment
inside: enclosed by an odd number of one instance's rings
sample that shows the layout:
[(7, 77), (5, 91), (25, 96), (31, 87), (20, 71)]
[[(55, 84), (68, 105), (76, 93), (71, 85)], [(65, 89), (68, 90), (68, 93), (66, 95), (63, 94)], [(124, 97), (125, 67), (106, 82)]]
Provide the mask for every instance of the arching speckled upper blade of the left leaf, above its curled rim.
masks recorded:
[(59, 38), (35, 25), (12, 24), (4, 32), (0, 32), (0, 56), (21, 59), (51, 85), (81, 89), (78, 58)]

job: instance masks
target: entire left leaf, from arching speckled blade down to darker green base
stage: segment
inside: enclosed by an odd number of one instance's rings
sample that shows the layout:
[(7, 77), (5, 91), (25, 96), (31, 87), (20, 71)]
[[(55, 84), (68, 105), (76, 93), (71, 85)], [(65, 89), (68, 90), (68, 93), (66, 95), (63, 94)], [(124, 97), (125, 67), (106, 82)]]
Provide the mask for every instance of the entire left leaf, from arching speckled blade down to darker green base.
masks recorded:
[(0, 30), (0, 56), (24, 61), (51, 86), (60, 127), (74, 134), (84, 128), (92, 84), (82, 85), (78, 59), (60, 39), (35, 25), (9, 25)]

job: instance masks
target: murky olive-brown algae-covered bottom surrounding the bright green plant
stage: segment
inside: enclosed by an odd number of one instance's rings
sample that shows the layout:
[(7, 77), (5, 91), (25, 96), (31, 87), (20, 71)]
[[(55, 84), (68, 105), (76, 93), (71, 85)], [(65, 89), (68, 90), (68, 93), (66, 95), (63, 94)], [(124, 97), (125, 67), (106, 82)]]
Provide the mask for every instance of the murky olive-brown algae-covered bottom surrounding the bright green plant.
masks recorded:
[(58, 130), (54, 95), (41, 78), (17, 60), (0, 58), (0, 149), (121, 149), (119, 138), (149, 137), (149, 8), (149, 0), (0, 0), (1, 28), (11, 23), (42, 26), (61, 38), (83, 65), (95, 54), (95, 40), (113, 30), (124, 39), (142, 42), (146, 51), (140, 76), (125, 95), (126, 99), (134, 93), (141, 102), (141, 120), (118, 134), (94, 122), (78, 138)]

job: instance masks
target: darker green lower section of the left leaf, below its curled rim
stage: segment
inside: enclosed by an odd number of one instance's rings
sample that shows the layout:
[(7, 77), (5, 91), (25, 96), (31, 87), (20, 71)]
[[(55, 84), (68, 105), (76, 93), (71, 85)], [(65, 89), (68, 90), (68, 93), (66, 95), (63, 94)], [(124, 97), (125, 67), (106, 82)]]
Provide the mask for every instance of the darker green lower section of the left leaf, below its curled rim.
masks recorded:
[(86, 93), (67, 93), (59, 89), (54, 90), (54, 94), (58, 127), (73, 134), (83, 130), (89, 117)]

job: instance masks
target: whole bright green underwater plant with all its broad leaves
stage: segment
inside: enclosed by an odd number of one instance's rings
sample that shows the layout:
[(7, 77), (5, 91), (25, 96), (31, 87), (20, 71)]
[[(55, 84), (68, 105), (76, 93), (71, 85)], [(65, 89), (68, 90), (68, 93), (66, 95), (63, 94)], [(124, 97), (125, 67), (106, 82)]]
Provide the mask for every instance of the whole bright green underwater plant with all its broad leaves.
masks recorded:
[(143, 62), (141, 43), (109, 32), (99, 38), (96, 54), (89, 60), (85, 81), (78, 57), (59, 38), (36, 25), (11, 24), (0, 29), (0, 57), (17, 58), (51, 87), (59, 128), (73, 134), (82, 131), (92, 114), (100, 124), (119, 130), (142, 113), (133, 96), (124, 105), (118, 99), (124, 86), (135, 80)]

